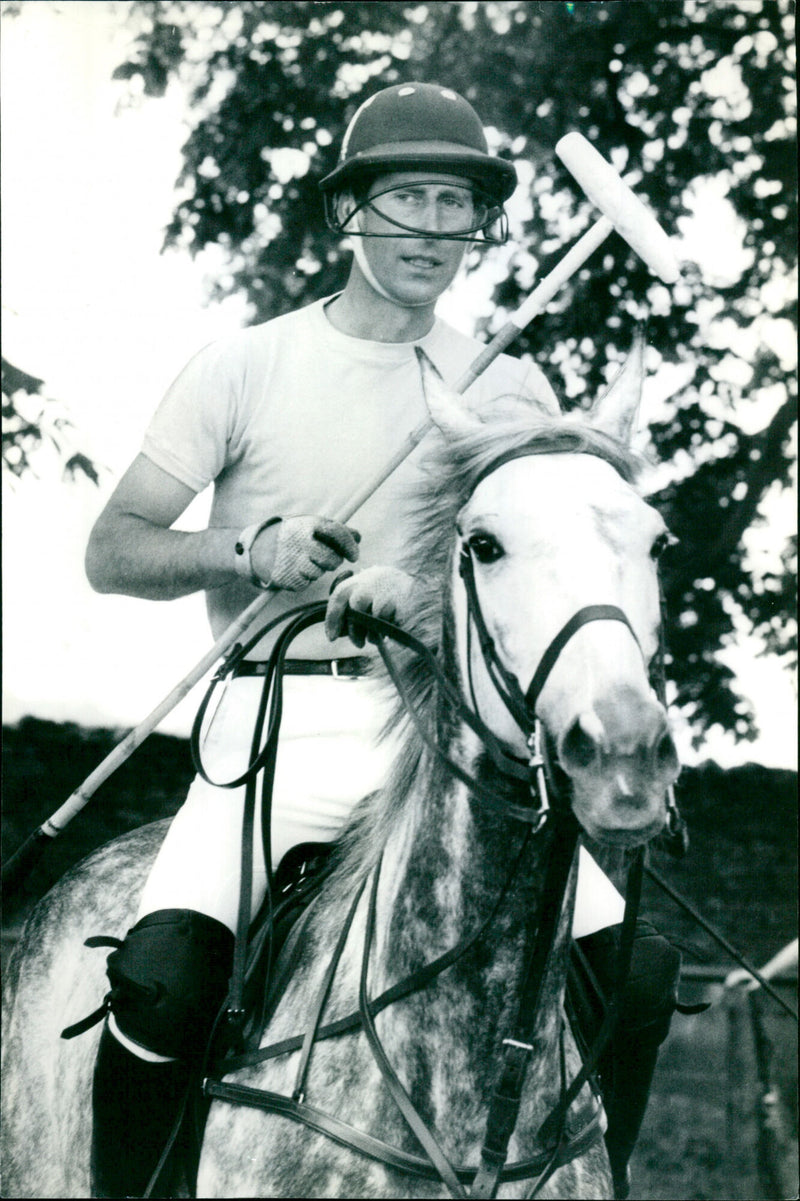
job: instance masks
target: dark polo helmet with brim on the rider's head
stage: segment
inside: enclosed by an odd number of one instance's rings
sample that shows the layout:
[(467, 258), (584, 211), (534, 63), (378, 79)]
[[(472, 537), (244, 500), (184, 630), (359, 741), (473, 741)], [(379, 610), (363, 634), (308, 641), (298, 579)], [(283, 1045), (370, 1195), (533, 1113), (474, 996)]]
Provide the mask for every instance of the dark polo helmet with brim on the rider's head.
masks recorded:
[(342, 139), (338, 166), (320, 184), (329, 225), (339, 232), (353, 232), (345, 228), (350, 217), (336, 215), (336, 195), (358, 195), (376, 175), (404, 171), (470, 180), (491, 211), (480, 226), (484, 232), (505, 217), (502, 204), (517, 186), (513, 165), (489, 154), (480, 119), (462, 96), (437, 84), (394, 84), (370, 96), (357, 110)]

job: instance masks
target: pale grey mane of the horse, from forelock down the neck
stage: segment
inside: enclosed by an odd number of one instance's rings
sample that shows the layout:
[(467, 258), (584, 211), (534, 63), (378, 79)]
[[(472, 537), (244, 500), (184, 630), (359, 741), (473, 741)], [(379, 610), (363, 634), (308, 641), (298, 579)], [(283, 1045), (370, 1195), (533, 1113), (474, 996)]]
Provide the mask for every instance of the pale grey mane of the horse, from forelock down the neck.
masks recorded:
[[(453, 555), (453, 532), (458, 514), (467, 502), (477, 482), (491, 471), (494, 464), (513, 454), (591, 454), (610, 464), (627, 483), (634, 483), (643, 460), (628, 447), (610, 436), (581, 424), (580, 414), (555, 416), (531, 408), (519, 417), (505, 417), (490, 424), (476, 425), (459, 435), (430, 438), (422, 464), (422, 486), (406, 514), (408, 539), (401, 566), (420, 580), (414, 599), (414, 611), (405, 627), (425, 646), (437, 649), (448, 643), (449, 569)], [(437, 715), (435, 680), (431, 669), (416, 656), (398, 653), (389, 645), (396, 661), (404, 691), (429, 729), (441, 725)], [(443, 667), (452, 669), (443, 652)], [(387, 687), (394, 691), (390, 681)], [(395, 693), (396, 697), (396, 693)], [(423, 759), (423, 742), (408, 723), (404, 701), (398, 698), (389, 730), (405, 728), (405, 737), (390, 777), (376, 797), (365, 797), (353, 811), (340, 839), (340, 880), (350, 889), (353, 878), (369, 870), (381, 853), (396, 817), (417, 777)]]

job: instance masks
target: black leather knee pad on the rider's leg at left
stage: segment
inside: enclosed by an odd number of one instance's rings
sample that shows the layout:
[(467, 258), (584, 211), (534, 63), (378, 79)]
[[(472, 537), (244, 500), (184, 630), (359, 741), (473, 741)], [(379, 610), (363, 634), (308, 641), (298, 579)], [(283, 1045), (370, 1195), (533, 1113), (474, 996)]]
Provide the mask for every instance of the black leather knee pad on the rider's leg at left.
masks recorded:
[(123, 1034), (156, 1054), (202, 1054), (227, 993), (233, 943), (227, 926), (191, 909), (142, 918), (107, 960)]

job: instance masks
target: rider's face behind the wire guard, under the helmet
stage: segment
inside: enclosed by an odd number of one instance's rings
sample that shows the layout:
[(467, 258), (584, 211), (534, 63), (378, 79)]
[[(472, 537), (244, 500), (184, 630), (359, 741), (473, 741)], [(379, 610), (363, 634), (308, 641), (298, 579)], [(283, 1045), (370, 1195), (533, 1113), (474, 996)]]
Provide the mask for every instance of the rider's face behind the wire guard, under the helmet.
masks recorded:
[[(366, 234), (393, 234), (411, 227), (418, 234), (363, 239), (376, 280), (402, 304), (434, 303), (452, 283), (466, 244), (441, 235), (461, 232), (474, 220), (466, 180), (430, 172), (381, 175), (369, 189), (358, 221)], [(438, 237), (426, 237), (426, 232)]]

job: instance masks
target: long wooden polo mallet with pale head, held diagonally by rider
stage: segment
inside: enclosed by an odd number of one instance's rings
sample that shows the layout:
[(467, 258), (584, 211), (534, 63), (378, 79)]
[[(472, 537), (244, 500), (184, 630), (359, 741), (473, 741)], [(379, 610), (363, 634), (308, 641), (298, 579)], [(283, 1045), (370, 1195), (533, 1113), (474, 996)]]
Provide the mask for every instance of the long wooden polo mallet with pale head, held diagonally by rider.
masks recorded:
[[(586, 138), (580, 133), (568, 133), (556, 145), (556, 154), (603, 215), (579, 238), (561, 262), (531, 292), (502, 329), (495, 334), (455, 384), (456, 393), (466, 392), (489, 364), (517, 337), (520, 330), (525, 329), (533, 317), (543, 312), (556, 292), (575, 274), (611, 231), (616, 229), (664, 283), (674, 283), (680, 275), (673, 246), (655, 216), (622, 183), (614, 167), (595, 150)], [(431, 426), (430, 418), (420, 422), (381, 471), (350, 498), (340, 513), (335, 514), (335, 520), (350, 521), (362, 504), (408, 458)], [(2, 868), (4, 891), (13, 891), (17, 882), (34, 867), (48, 844), (48, 839), (55, 838), (83, 809), (100, 785), (133, 754), (167, 713), (171, 713), (175, 705), (191, 692), (195, 685), (239, 640), (253, 621), (262, 616), (270, 600), (269, 590), (256, 597), (228, 626), (189, 675), (114, 747), (64, 805), (28, 836)]]

